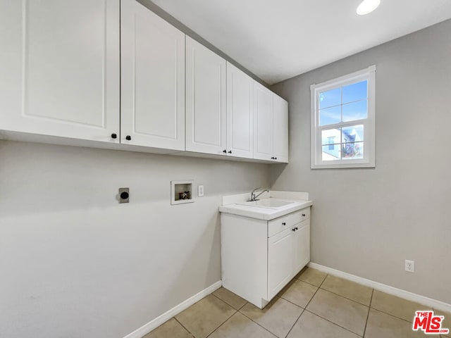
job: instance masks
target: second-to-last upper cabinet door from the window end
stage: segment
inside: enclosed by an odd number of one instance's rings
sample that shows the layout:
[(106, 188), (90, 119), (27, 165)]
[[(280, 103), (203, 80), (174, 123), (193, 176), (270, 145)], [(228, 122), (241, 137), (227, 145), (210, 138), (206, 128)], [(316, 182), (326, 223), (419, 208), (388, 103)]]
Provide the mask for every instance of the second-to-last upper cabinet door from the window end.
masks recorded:
[(254, 158), (273, 157), (273, 92), (254, 82)]

